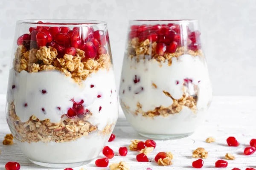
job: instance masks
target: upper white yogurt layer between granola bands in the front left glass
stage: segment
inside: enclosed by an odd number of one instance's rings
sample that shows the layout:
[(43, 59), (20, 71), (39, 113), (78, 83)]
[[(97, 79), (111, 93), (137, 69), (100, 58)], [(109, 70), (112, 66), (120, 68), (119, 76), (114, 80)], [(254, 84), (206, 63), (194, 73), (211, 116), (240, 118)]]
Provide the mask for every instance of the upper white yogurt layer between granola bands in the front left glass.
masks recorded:
[[(15, 88), (12, 88), (13, 85)], [(94, 87), (91, 88), (91, 85)], [(46, 93), (43, 94), (42, 90)], [(7, 100), (14, 101), (15, 111), (21, 122), (26, 122), (32, 115), (40, 120), (49, 119), (50, 122), (60, 122), (61, 115), (72, 108), (73, 102), (70, 99), (73, 98), (76, 102), (84, 100), (85, 109), (93, 113), (88, 121), (98, 125), (99, 130), (115, 122), (118, 116), (113, 70), (100, 69), (78, 85), (71, 77), (66, 77), (59, 71), (17, 73), (12, 69), (9, 74), (7, 93)], [(98, 95), (101, 97), (98, 98)]]

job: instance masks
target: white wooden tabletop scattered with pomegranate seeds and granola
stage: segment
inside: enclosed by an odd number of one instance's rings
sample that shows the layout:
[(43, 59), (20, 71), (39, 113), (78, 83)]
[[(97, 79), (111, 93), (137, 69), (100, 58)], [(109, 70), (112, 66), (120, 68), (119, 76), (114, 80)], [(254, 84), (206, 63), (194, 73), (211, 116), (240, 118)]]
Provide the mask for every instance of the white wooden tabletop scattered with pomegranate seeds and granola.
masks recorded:
[[(5, 170), (4, 166), (8, 161), (19, 162), (21, 165), (20, 170), (52, 170), (53, 168), (39, 167), (29, 162), (17, 144), (11, 146), (2, 144), (6, 133), (10, 133), (5, 120), (5, 98), (4, 95), (0, 95), (0, 170)], [(122, 111), (120, 111), (113, 133), (116, 135), (116, 139), (113, 142), (108, 142), (107, 145), (115, 153), (118, 153), (118, 149), (121, 146), (128, 147), (130, 140), (146, 140), (139, 136), (128, 124)], [(216, 142), (206, 143), (205, 139), (209, 136), (213, 136)], [(240, 146), (228, 147), (226, 143), (228, 136), (235, 136), (240, 142)], [(233, 167), (245, 170), (246, 167), (256, 168), (256, 153), (250, 156), (243, 154), (244, 147), (249, 146), (252, 138), (256, 138), (256, 97), (215, 96), (208, 111), (207, 119), (201, 123), (192, 136), (169, 141), (156, 140), (157, 147), (148, 156), (151, 162), (137, 162), (136, 155), (138, 152), (128, 150), (127, 156), (114, 156), (113, 159), (110, 159), (109, 164), (125, 161), (130, 165), (131, 170), (146, 170), (148, 167), (152, 170), (189, 170), (192, 169), (192, 161), (196, 160), (192, 158), (192, 150), (197, 147), (204, 147), (209, 151), (209, 156), (204, 159), (202, 170), (219, 169), (215, 168), (215, 161), (224, 159), (226, 153), (233, 153), (236, 157), (235, 160), (228, 160), (227, 170), (231, 170)], [(154, 156), (160, 151), (171, 151), (174, 154), (171, 166), (160, 167), (154, 162)], [(99, 158), (102, 157), (103, 155), (100, 154)], [(95, 167), (94, 161), (83, 167), (85, 170), (109, 170), (108, 167)], [(79, 170), (80, 168), (73, 169)]]

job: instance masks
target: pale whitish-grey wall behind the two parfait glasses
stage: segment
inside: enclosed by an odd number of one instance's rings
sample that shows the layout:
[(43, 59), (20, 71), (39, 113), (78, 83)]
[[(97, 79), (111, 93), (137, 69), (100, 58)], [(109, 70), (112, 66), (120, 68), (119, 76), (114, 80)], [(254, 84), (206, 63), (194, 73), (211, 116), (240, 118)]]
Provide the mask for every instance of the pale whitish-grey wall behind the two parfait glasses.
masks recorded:
[(108, 22), (116, 85), (130, 19), (198, 19), (214, 95), (256, 95), (256, 0), (0, 0), (0, 94), (16, 20)]

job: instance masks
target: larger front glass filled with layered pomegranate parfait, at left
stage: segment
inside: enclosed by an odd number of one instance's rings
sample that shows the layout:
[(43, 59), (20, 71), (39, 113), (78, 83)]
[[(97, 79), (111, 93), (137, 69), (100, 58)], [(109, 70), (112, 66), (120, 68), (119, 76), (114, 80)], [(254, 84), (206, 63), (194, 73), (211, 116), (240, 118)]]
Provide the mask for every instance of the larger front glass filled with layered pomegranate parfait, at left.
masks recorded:
[(74, 167), (95, 159), (118, 117), (107, 24), (17, 21), (6, 117), (35, 164)]

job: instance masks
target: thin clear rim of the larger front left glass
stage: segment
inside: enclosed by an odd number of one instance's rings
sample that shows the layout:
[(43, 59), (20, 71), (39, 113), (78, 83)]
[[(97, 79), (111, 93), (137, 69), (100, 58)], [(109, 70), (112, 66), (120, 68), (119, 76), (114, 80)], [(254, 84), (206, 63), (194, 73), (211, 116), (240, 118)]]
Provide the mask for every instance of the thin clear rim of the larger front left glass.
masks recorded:
[[(42, 21), (43, 23), (38, 23)], [(41, 20), (18, 20), (16, 24), (35, 24), (35, 25), (76, 25), (76, 26), (88, 26), (88, 25), (107, 25), (105, 21), (99, 20), (73, 20), (73, 19), (41, 19)]]

